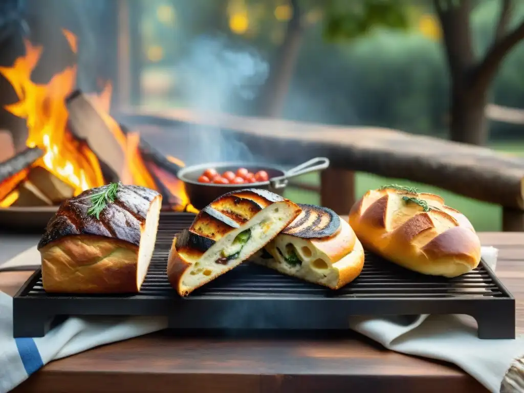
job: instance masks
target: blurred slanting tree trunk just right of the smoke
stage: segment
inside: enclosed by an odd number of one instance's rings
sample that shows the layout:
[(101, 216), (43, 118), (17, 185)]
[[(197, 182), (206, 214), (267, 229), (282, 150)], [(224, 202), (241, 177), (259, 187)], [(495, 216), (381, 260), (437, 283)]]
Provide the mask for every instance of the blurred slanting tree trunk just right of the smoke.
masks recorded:
[(269, 77), (259, 96), (256, 108), (259, 116), (279, 117), (286, 104), (303, 32), (302, 17), (297, 1), (291, 1), (291, 4), (293, 16), (289, 20), (286, 36), (270, 65)]

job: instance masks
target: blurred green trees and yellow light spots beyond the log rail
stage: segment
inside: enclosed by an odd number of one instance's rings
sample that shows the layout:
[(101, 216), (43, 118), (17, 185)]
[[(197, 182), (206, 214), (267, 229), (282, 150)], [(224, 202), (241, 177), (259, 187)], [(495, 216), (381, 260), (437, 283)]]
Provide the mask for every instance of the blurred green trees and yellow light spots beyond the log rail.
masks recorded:
[(157, 78), (169, 75), (170, 83), (157, 82), (170, 86), (169, 102), (184, 105), (177, 61), (195, 37), (218, 34), (269, 65), (256, 97), (231, 94), (224, 110), (474, 144), (521, 135), (521, 126), (504, 123), (488, 133), (483, 108), (524, 107), (524, 2), (148, 0), (141, 7), (143, 81), (152, 88), (143, 103), (155, 101), (157, 70)]

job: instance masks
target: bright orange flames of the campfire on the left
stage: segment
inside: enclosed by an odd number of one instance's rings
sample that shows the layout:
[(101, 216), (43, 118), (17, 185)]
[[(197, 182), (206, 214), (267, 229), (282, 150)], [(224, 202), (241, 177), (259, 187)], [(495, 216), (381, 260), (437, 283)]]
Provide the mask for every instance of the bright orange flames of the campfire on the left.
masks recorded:
[[(77, 53), (77, 37), (68, 30), (62, 32), (71, 50)], [(39, 147), (45, 152), (34, 166), (42, 166), (54, 176), (70, 184), (74, 188), (75, 195), (86, 189), (103, 185), (104, 178), (98, 158), (84, 141), (76, 139), (70, 133), (67, 125), (69, 114), (65, 100), (75, 86), (76, 65), (55, 74), (47, 84), (34, 83), (31, 81), (31, 72), (40, 59), (42, 48), (31, 45), (27, 40), (25, 47), (25, 56), (16, 59), (13, 67), (0, 67), (0, 73), (13, 85), (19, 99), (17, 103), (7, 105), (6, 110), (26, 119), (28, 128), (26, 145)], [(111, 129), (124, 153), (126, 170), (121, 180), (126, 184), (143, 185), (158, 190), (155, 180), (141, 158), (139, 134), (124, 134), (118, 123), (108, 114), (111, 93), (111, 83), (107, 83), (99, 95), (91, 95), (89, 99)], [(180, 166), (184, 165), (177, 158), (168, 157), (168, 159)], [(10, 179), (10, 182), (20, 181), (20, 178), (27, 176), (27, 172), (28, 170), (19, 172), (16, 179)], [(166, 173), (161, 173), (161, 177), (166, 181), (163, 185), (173, 195), (179, 196), (181, 200), (188, 203), (180, 180)], [(4, 194), (2, 190), (6, 190)], [(0, 207), (10, 206), (16, 201), (18, 192), (12, 190), (13, 188), (7, 187), (7, 184), (0, 184)], [(177, 206), (176, 209), (182, 210), (184, 207)]]

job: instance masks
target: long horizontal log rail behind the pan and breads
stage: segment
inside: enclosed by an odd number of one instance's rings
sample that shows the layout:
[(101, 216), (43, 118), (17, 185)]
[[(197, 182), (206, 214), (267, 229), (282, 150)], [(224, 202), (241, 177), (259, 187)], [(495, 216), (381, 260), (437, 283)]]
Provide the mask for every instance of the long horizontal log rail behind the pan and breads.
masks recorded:
[[(489, 148), (377, 127), (343, 127), (188, 110), (130, 111), (121, 122), (209, 126), (268, 161), (293, 165), (323, 156), (331, 167), (431, 184), (457, 194), (524, 210), (524, 160)], [(186, 123), (186, 124), (187, 124)], [(224, 131), (226, 130), (226, 131)], [(290, 152), (295, 152), (290, 154)]]

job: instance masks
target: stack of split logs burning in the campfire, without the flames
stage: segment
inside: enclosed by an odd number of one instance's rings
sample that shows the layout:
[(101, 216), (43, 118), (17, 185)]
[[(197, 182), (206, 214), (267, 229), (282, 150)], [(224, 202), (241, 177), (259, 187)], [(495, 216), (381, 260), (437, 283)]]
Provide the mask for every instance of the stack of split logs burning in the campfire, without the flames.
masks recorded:
[[(70, 136), (79, 144), (86, 144), (97, 157), (104, 183), (122, 181), (132, 183), (140, 172), (140, 183), (155, 188), (163, 196), (163, 210), (185, 211), (189, 207), (185, 192), (177, 178), (181, 165), (163, 156), (142, 139), (137, 146), (126, 147), (127, 130), (111, 121), (88, 96), (80, 91), (66, 101), (69, 111)], [(104, 118), (105, 117), (105, 118)], [(115, 132), (111, 127), (119, 130)], [(121, 134), (119, 134), (121, 133)], [(137, 136), (134, 134), (133, 136)], [(139, 136), (138, 136), (139, 138)], [(133, 163), (126, 162), (124, 148), (131, 151)], [(26, 148), (14, 157), (0, 162), (0, 208), (8, 206), (53, 206), (71, 198), (75, 189), (45, 168), (40, 148)], [(130, 168), (130, 166), (133, 168)]]

